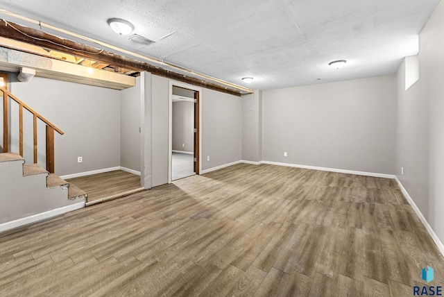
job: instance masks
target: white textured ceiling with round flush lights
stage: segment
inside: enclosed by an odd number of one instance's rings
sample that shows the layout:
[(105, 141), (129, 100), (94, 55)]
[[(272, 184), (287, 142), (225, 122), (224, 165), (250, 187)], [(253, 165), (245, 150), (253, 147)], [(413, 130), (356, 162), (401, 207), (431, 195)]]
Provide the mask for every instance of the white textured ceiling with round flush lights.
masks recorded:
[[(394, 74), (402, 58), (418, 53), (418, 34), (437, 3), (0, 0), (0, 8), (230, 83), (267, 90)], [(134, 33), (155, 43), (142, 46), (113, 33), (106, 23), (111, 17), (127, 19), (135, 25)], [(348, 60), (342, 69), (328, 66), (341, 59)], [(241, 81), (245, 76), (255, 80), (246, 85)]]

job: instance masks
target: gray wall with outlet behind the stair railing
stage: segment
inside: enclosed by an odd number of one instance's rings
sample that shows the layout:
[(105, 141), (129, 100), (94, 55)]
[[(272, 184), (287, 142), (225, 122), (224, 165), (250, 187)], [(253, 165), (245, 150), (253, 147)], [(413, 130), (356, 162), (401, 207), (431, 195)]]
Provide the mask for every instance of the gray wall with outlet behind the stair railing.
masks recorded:
[[(28, 83), (13, 81), (10, 91), (65, 132), (56, 133), (56, 174), (120, 165), (119, 90), (35, 77)], [(26, 121), (32, 123), (32, 117)], [(39, 164), (46, 167), (44, 125), (39, 130)], [(32, 131), (26, 137), (31, 137), (32, 144)], [(14, 151), (18, 151), (16, 143)], [(80, 156), (83, 163), (77, 162)], [(26, 148), (25, 158), (33, 163), (31, 146)]]

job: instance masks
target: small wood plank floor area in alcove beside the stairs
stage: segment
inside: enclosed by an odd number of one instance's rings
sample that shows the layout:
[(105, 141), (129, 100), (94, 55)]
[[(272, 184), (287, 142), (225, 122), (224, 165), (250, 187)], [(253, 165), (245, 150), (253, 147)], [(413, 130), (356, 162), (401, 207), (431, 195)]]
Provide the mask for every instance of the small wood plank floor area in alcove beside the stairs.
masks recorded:
[(115, 196), (141, 187), (140, 176), (123, 170), (97, 173), (80, 178), (70, 178), (67, 182), (74, 183), (74, 185), (87, 192), (87, 202), (99, 201), (103, 198)]

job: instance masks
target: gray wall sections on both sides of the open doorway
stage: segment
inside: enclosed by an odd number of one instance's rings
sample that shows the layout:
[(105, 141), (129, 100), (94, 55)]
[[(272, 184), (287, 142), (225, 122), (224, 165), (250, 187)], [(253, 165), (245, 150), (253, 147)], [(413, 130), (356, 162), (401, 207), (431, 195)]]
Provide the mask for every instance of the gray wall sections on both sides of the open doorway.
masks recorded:
[[(151, 76), (153, 187), (168, 183), (169, 80)], [(148, 91), (146, 91), (148, 92)], [(241, 160), (242, 99), (203, 89), (202, 169)], [(207, 161), (210, 155), (210, 161)]]

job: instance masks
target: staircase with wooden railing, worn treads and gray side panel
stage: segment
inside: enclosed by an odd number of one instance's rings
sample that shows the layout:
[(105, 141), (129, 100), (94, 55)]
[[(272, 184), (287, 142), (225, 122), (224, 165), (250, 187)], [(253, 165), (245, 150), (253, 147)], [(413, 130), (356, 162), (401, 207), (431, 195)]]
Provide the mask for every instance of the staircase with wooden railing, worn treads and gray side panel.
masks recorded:
[[(63, 213), (64, 210), (67, 212), (85, 206), (87, 194), (54, 174), (54, 132), (62, 135), (62, 130), (17, 99), (6, 88), (0, 87), (0, 96), (1, 92), (3, 147), (0, 148), (3, 152), (0, 151), (0, 232), (32, 222), (33, 218), (37, 221), (55, 213)], [(10, 101), (17, 102), (19, 108), (19, 153), (10, 152)], [(26, 164), (23, 158), (24, 110), (33, 115), (33, 164)], [(37, 120), (46, 125), (46, 169), (37, 164)]]

